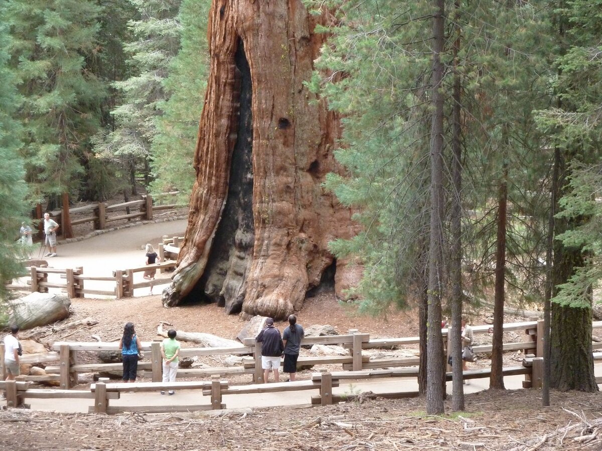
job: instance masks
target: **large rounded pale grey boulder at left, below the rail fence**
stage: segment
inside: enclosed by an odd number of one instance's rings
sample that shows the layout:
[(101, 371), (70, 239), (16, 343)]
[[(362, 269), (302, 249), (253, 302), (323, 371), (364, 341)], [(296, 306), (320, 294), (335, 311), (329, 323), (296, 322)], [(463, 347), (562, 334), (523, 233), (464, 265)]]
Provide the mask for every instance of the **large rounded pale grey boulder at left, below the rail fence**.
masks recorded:
[(4, 326), (17, 324), (25, 330), (68, 318), (71, 301), (67, 296), (35, 292), (7, 304), (8, 322)]

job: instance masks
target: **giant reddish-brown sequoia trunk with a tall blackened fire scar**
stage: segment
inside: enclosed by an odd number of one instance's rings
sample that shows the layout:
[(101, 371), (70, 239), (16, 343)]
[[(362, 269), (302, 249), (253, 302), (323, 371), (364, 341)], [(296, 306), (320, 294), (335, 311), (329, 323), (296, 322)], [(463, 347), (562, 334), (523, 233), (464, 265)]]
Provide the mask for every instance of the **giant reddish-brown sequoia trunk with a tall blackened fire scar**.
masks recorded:
[(326, 38), (314, 27), (326, 20), (302, 0), (213, 1), (197, 179), (164, 305), (205, 299), (285, 318), (324, 273), (341, 296), (355, 280), (359, 269), (327, 250), (355, 233), (351, 212), (321, 188), (339, 171), (340, 121), (303, 85)]

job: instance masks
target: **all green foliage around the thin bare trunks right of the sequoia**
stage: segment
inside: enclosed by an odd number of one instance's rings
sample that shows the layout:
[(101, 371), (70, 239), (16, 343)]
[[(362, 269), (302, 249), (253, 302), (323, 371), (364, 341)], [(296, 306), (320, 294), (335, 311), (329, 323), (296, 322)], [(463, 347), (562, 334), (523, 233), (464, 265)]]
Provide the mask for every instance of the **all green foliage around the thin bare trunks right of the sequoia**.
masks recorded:
[[(539, 152), (541, 135), (532, 110), (549, 102), (545, 52), (550, 43), (537, 8), (533, 3), (461, 2), (454, 13), (460, 31), (453, 32), (453, 20), (448, 24), (448, 68), (454, 38), (460, 41), (464, 190), (453, 192), (449, 173), (445, 189), (448, 198), (460, 195), (464, 205), (463, 259), (475, 269), (473, 293), (492, 285), (496, 199), (505, 165), (512, 204), (507, 281), (510, 287), (521, 286), (523, 298), (542, 296), (547, 207), (542, 180), (550, 156), (542, 158)], [(335, 156), (347, 173), (330, 174), (326, 186), (358, 211), (355, 219), (363, 231), (332, 243), (331, 249), (337, 257), (361, 259), (365, 273), (359, 290), (365, 305), (405, 305), (425, 271), (420, 250), (428, 236), (430, 4), (408, 2), (400, 10), (352, 1), (335, 9), (337, 25), (324, 29), (332, 38), (309, 85), (344, 117), (344, 140)], [(452, 77), (447, 73), (442, 90), (449, 162)]]

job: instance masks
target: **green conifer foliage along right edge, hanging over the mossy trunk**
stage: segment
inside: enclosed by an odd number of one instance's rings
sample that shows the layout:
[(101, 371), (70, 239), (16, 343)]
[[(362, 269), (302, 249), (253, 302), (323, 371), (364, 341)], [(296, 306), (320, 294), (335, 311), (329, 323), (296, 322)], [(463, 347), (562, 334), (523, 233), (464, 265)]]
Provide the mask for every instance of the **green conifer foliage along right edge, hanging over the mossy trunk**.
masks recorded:
[(580, 250), (585, 265), (558, 287), (553, 301), (571, 307), (591, 305), (591, 288), (602, 279), (602, 2), (572, 1), (556, 13), (566, 24), (565, 52), (555, 60), (553, 88), (559, 102), (538, 113), (538, 126), (566, 155), (568, 186), (557, 218), (573, 224), (555, 238)]

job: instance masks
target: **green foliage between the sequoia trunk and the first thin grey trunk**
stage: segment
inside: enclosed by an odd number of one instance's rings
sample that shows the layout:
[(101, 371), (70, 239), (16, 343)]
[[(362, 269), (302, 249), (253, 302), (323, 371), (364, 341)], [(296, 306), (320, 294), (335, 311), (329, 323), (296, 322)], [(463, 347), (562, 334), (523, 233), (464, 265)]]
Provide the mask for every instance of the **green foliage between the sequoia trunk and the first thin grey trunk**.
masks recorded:
[(420, 1), (402, 14), (390, 2), (338, 7), (340, 25), (327, 30), (332, 38), (309, 85), (344, 117), (335, 156), (347, 173), (329, 174), (326, 188), (356, 209), (363, 232), (330, 248), (338, 258), (360, 259), (362, 307), (380, 313), (406, 305), (411, 282), (424, 272), (417, 259), (428, 236), (430, 10)]

